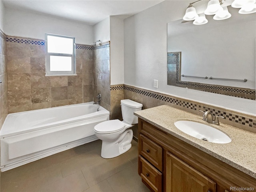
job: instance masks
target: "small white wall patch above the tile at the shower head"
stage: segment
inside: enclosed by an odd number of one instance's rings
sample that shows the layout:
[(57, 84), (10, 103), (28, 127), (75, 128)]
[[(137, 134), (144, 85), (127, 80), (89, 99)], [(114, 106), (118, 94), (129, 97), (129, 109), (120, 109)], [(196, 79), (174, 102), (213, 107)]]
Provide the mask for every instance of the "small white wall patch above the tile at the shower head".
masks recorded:
[(101, 42), (110, 40), (110, 17), (98, 22), (93, 26), (92, 42), (96, 42), (98, 40)]

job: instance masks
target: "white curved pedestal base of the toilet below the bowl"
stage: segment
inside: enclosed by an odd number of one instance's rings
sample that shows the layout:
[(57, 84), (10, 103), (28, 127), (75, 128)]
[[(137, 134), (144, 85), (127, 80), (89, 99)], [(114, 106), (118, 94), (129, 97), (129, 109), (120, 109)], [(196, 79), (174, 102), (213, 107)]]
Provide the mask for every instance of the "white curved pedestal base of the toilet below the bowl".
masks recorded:
[(109, 159), (117, 157), (132, 147), (133, 132), (131, 129), (124, 131), (116, 141), (102, 140), (101, 156)]

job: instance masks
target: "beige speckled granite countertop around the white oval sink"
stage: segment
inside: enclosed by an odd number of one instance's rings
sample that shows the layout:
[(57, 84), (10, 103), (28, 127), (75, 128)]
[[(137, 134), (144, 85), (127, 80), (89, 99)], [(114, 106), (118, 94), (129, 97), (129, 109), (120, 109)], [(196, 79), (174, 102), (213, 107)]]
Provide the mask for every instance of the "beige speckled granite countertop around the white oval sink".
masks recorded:
[[(134, 112), (136, 116), (160, 128), (176, 138), (214, 156), (215, 158), (256, 178), (256, 134), (244, 131), (220, 122), (214, 125), (194, 115), (168, 105), (157, 106)], [(192, 120), (212, 126), (226, 133), (232, 141), (227, 144), (216, 144), (194, 138), (180, 131), (174, 125), (179, 120)]]

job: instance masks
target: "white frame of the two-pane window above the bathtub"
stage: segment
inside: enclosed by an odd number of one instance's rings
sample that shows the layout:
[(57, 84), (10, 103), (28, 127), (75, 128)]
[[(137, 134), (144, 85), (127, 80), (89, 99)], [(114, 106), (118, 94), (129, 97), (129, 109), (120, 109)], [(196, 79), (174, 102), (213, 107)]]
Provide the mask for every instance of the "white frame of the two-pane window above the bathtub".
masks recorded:
[[(56, 36), (61, 38), (69, 38), (73, 40), (73, 54), (64, 54), (64, 53), (48, 53), (48, 36)], [(46, 76), (60, 76), (60, 75), (76, 75), (76, 38), (70, 36), (56, 35), (56, 34), (45, 34), (45, 52), (46, 52), (46, 61), (45, 61), (45, 70)], [(68, 56), (71, 57), (71, 71), (50, 71), (50, 56)]]

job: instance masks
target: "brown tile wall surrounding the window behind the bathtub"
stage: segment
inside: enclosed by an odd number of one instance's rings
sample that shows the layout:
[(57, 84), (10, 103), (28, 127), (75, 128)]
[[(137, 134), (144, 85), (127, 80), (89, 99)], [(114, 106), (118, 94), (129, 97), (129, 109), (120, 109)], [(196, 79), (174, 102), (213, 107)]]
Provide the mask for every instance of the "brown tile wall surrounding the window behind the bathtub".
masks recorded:
[(93, 100), (92, 46), (76, 44), (77, 76), (45, 76), (45, 42), (7, 36), (8, 112)]

